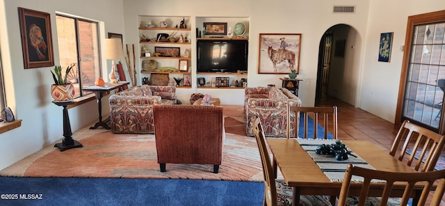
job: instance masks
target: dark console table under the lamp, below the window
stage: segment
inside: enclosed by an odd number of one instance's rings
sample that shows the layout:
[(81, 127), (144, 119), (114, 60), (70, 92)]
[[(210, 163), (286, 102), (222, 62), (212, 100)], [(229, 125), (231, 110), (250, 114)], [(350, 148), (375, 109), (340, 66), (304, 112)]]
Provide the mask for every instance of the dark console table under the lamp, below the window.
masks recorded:
[(119, 91), (122, 90), (122, 87), (125, 85), (130, 84), (129, 81), (125, 82), (119, 82), (115, 84), (105, 84), (104, 86), (88, 86), (86, 88), (82, 88), (82, 90), (90, 91), (92, 93), (95, 93), (96, 99), (97, 99), (97, 109), (99, 111), (99, 122), (97, 122), (94, 126), (90, 127), (90, 129), (97, 129), (97, 127), (102, 126), (104, 129), (111, 129), (110, 126), (108, 126), (109, 120), (102, 121), (102, 97), (104, 95), (107, 95), (110, 93), (111, 90), (118, 89)]

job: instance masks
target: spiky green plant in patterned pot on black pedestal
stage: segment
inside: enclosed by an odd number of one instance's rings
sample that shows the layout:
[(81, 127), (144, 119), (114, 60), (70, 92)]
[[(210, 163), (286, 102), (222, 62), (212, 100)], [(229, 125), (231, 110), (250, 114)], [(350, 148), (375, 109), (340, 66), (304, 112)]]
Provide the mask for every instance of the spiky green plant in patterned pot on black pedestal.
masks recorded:
[(54, 71), (51, 70), (54, 79), (54, 84), (51, 85), (51, 97), (55, 101), (68, 101), (74, 98), (76, 92), (72, 83), (67, 82), (67, 76), (75, 65), (76, 63), (68, 65), (64, 76), (62, 76), (62, 66), (60, 65), (54, 66)]

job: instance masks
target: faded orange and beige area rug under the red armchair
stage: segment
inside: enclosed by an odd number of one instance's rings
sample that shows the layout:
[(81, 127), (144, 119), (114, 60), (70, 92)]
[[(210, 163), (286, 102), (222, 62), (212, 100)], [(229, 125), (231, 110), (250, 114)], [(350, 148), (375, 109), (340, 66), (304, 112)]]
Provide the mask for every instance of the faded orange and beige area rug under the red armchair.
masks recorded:
[(212, 173), (212, 165), (201, 164), (167, 164), (167, 172), (161, 173), (153, 134), (107, 131), (81, 143), (83, 148), (54, 149), (35, 160), (23, 176), (263, 181), (257, 143), (246, 136), (226, 134), (217, 174)]

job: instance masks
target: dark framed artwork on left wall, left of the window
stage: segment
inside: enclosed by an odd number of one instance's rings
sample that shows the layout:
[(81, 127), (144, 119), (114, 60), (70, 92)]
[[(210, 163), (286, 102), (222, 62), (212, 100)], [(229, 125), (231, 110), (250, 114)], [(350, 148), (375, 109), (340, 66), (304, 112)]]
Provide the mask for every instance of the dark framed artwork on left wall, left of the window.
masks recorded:
[(54, 66), (54, 50), (49, 13), (19, 8), (19, 24), (24, 68)]

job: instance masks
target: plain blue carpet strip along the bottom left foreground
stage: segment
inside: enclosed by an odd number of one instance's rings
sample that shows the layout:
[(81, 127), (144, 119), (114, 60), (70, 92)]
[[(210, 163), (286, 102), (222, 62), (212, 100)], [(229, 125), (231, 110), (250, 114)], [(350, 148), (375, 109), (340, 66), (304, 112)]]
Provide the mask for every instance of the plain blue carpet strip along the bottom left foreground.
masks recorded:
[[(18, 200), (5, 199), (15, 194)], [(28, 194), (42, 199), (23, 199)], [(0, 205), (262, 205), (264, 183), (0, 177), (0, 195)]]

